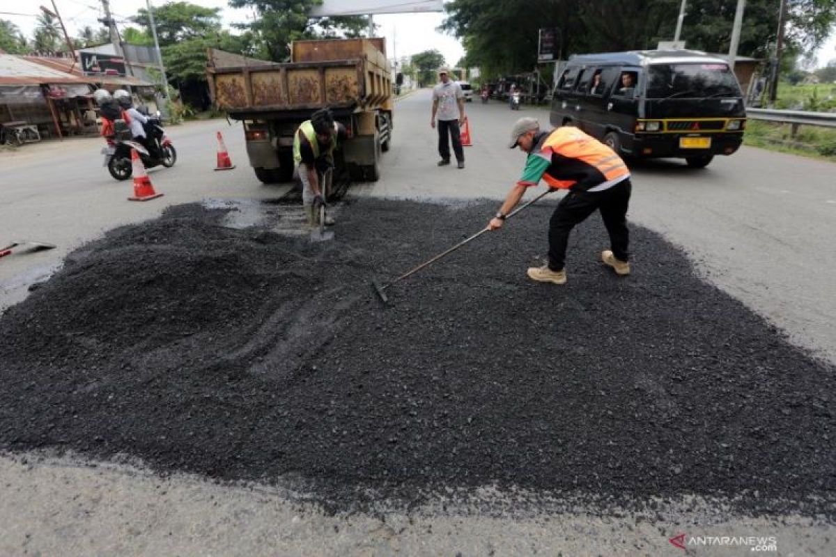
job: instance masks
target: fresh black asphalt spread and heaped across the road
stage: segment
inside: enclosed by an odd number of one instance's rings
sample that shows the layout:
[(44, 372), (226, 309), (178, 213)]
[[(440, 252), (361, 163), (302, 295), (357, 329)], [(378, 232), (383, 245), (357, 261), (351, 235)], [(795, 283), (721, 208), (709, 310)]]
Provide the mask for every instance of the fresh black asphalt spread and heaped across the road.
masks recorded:
[(201, 205), (113, 230), (0, 318), (0, 449), (298, 481), (334, 509), (496, 485), (833, 516), (833, 367), (649, 230), (619, 278), (594, 216), (568, 284), (536, 284), (534, 206), (375, 296), (495, 210), (355, 201), (329, 242)]

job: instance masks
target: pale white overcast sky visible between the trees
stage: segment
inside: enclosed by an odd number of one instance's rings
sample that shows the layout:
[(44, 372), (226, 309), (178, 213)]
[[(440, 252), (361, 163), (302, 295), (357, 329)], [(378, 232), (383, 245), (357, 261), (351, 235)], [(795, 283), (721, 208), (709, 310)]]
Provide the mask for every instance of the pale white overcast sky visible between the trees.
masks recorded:
[[(208, 8), (222, 8), (222, 21), (226, 27), (230, 23), (244, 22), (253, 17), (252, 11), (229, 8), (227, 0), (190, 1)], [(48, 0), (18, 0), (18, 2), (2, 0), (0, 12), (35, 14), (38, 13), (38, 6), (42, 3), (50, 5)], [(71, 36), (78, 34), (79, 28), (85, 25), (93, 28), (99, 27), (100, 24), (96, 18), (103, 16), (99, 0), (55, 0), (55, 3)], [(153, 0), (153, 3), (159, 6), (165, 1)], [(130, 24), (127, 18), (135, 15), (139, 8), (145, 8), (145, 0), (110, 0), (110, 11), (115, 15), (120, 28)], [(12, 21), (24, 34), (31, 37), (35, 18), (5, 13), (0, 13), (0, 18)], [(400, 58), (429, 48), (436, 48), (444, 54), (447, 64), (455, 64), (464, 55), (464, 48), (456, 38), (436, 32), (436, 28), (441, 25), (443, 19), (442, 13), (404, 13), (375, 16), (375, 23), (379, 26), (378, 34), (386, 38), (387, 54), (390, 57), (396, 54)], [(818, 50), (816, 56), (819, 66), (836, 59), (836, 33), (831, 35), (828, 42)]]

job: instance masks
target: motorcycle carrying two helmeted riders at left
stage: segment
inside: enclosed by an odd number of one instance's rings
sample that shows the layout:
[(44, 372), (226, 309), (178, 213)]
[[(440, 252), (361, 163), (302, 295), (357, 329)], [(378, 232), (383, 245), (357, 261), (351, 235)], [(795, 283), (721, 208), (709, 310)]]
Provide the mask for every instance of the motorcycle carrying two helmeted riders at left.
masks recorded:
[(133, 174), (134, 169), (130, 161), (131, 149), (136, 149), (136, 152), (140, 154), (140, 159), (146, 169), (159, 165), (171, 168), (176, 163), (177, 151), (171, 144), (171, 139), (166, 135), (166, 130), (162, 128), (160, 120), (151, 118), (144, 127), (145, 137), (153, 152), (149, 152), (144, 145), (133, 139), (125, 120), (115, 120), (115, 134), (106, 138), (107, 146), (101, 150), (104, 154), (102, 166), (107, 166), (107, 170), (115, 180), (128, 180)]

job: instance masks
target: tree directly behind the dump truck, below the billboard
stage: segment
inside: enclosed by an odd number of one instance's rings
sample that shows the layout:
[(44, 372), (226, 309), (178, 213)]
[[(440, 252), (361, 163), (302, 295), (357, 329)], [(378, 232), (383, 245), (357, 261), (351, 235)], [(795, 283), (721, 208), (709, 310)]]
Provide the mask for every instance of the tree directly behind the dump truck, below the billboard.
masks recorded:
[(311, 8), (321, 0), (229, 0), (232, 8), (255, 8), (258, 18), (252, 23), (238, 23), (263, 41), (267, 57), (277, 62), (288, 60), (288, 45), (303, 38), (361, 37), (369, 26), (364, 16), (310, 18)]

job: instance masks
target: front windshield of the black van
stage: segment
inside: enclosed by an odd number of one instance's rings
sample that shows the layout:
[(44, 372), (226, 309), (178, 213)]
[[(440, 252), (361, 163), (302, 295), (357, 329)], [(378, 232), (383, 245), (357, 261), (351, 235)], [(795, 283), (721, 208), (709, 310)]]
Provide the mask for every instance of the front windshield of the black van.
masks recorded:
[(740, 97), (725, 63), (656, 63), (648, 71), (647, 98)]

